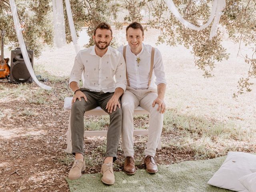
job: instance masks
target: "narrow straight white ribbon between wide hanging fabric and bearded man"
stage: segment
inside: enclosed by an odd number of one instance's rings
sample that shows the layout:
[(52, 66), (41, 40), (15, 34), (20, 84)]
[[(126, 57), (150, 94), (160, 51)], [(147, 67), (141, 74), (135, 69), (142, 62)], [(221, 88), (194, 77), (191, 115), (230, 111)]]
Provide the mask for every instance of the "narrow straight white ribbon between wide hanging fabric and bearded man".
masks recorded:
[(73, 44), (75, 47), (76, 54), (78, 54), (78, 52), (80, 51), (80, 46), (78, 45), (76, 29), (74, 26), (74, 21), (73, 21), (73, 16), (72, 16), (69, 0), (65, 0), (65, 4), (66, 4), (67, 15), (68, 15), (68, 24), (69, 24), (69, 28), (70, 28), (70, 34), (72, 36), (72, 41), (73, 41)]

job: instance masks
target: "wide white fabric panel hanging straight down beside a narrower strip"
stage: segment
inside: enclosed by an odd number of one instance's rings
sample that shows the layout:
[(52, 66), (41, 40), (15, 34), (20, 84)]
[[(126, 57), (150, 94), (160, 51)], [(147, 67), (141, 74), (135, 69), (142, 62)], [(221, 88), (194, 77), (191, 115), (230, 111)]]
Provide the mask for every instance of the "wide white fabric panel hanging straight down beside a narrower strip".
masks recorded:
[(63, 1), (52, 0), (52, 14), (54, 24), (54, 40), (58, 48), (66, 44)]

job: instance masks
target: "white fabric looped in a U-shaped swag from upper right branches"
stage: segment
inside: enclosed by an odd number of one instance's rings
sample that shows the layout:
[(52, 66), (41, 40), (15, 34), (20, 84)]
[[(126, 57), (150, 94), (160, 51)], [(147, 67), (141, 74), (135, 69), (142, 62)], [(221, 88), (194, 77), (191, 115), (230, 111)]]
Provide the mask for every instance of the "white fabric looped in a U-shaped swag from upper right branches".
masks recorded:
[(226, 0), (214, 0), (213, 4), (212, 4), (212, 10), (211, 10), (210, 18), (208, 19), (206, 24), (198, 27), (198, 26), (195, 26), (194, 24), (188, 22), (187, 20), (185, 20), (182, 17), (182, 15), (178, 11), (178, 9), (176, 8), (176, 6), (175, 6), (175, 4), (172, 0), (164, 0), (164, 1), (165, 1), (166, 5), (168, 6), (168, 8), (170, 9), (170, 11), (172, 12), (172, 14), (176, 17), (176, 19), (178, 21), (180, 21), (184, 26), (186, 26), (186, 27), (188, 27), (192, 30), (204, 29), (204, 28), (208, 27), (211, 24), (212, 20), (214, 19), (214, 22), (212, 24), (212, 28), (211, 28), (211, 31), (210, 31), (210, 37), (209, 37), (210, 40), (217, 33), (217, 26), (220, 22), (221, 12), (226, 7)]

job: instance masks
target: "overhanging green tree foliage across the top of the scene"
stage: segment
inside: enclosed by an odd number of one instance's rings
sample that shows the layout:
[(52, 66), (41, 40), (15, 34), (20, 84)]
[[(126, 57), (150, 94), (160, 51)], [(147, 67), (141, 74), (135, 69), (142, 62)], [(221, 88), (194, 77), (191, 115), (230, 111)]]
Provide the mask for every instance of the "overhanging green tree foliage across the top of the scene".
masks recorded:
[[(33, 0), (16, 0), (20, 22), (22, 24), (24, 39), (28, 47), (39, 56), (42, 50), (42, 42), (53, 44), (53, 24), (51, 0), (41, 0), (39, 7), (33, 7)], [(212, 1), (210, 0), (174, 0), (184, 19), (200, 26), (208, 20)], [(195, 66), (204, 72), (204, 77), (213, 76), (213, 69), (216, 62), (228, 59), (229, 54), (222, 46), (222, 33), (218, 30), (217, 35), (209, 40), (210, 27), (196, 31), (184, 27), (168, 10), (164, 0), (70, 0), (72, 15), (76, 32), (82, 26), (88, 26), (87, 32), (92, 37), (94, 28), (98, 23), (105, 21), (111, 23), (111, 17), (124, 11), (122, 22), (115, 22), (116, 29), (121, 29), (123, 24), (130, 22), (142, 22), (141, 10), (148, 14), (147, 28), (156, 28), (161, 34), (157, 44), (166, 43), (170, 46), (178, 44), (186, 48), (192, 47), (192, 54), (195, 58)], [(246, 46), (256, 43), (256, 2), (251, 0), (226, 0), (226, 8), (222, 12), (220, 24), (229, 35), (229, 38), (236, 43), (245, 42)], [(64, 3), (64, 17), (66, 29), (66, 41), (72, 41), (66, 16)], [(6, 43), (9, 48), (18, 46), (14, 30), (10, 5), (8, 1), (0, 1), (0, 23), (1, 28), (7, 32)], [(86, 47), (94, 44), (92, 38)], [(112, 46), (116, 47), (115, 41)], [(254, 50), (255, 51), (255, 50)], [(245, 58), (250, 64), (247, 78), (241, 78), (238, 82), (237, 97), (244, 90), (250, 92), (250, 77), (256, 76), (254, 58)], [(243, 90), (243, 88), (245, 88)]]

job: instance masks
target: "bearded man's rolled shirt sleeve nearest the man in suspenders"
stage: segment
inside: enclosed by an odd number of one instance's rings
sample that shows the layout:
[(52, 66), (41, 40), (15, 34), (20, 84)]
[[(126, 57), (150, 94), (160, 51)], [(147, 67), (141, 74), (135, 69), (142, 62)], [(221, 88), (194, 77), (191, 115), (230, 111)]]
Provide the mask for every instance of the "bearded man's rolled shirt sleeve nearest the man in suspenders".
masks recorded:
[(126, 90), (126, 64), (124, 61), (124, 57), (120, 54), (120, 59), (117, 64), (116, 68), (116, 88), (120, 87), (124, 91)]

